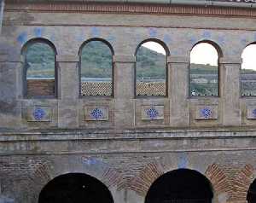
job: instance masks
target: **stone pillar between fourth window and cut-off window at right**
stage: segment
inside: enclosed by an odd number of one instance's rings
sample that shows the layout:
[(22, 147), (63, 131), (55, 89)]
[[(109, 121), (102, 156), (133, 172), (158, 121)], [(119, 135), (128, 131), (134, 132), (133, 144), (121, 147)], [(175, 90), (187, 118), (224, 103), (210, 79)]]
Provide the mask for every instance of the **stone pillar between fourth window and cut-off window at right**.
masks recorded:
[(219, 60), (220, 97), (223, 102), (223, 125), (241, 125), (240, 107), (241, 58), (224, 57)]

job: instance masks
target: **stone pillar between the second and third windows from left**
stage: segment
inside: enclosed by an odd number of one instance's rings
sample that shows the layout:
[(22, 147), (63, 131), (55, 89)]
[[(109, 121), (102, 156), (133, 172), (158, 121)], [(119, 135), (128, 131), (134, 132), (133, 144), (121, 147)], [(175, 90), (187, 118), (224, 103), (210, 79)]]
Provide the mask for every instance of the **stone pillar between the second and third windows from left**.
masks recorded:
[(134, 126), (135, 56), (114, 55), (115, 127)]

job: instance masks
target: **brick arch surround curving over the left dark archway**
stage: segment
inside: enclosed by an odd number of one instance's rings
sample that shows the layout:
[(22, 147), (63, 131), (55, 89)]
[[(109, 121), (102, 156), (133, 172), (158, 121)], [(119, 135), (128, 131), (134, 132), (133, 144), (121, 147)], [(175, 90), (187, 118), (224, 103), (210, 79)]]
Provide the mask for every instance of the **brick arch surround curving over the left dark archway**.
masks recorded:
[[(78, 163), (74, 171), (73, 164), (65, 165), (56, 169), (51, 162), (44, 162), (39, 164), (32, 172), (32, 175), (28, 178), (28, 182), (32, 185), (31, 194), (32, 202), (38, 202), (38, 197), (44, 186), (49, 183), (55, 177), (67, 174), (67, 173), (84, 173), (91, 177), (95, 177), (103, 184), (105, 184), (110, 190), (118, 187), (122, 181), (120, 173), (114, 170), (111, 166), (104, 163), (102, 159), (81, 157), (77, 159)], [(68, 162), (66, 162), (68, 163)]]

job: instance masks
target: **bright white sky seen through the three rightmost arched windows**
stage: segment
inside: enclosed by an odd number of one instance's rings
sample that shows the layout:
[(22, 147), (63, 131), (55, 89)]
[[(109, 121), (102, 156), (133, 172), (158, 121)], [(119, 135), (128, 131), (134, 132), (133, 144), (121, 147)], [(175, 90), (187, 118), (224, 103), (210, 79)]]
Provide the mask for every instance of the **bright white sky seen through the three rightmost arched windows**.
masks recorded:
[[(165, 49), (158, 43), (148, 42), (143, 44), (144, 47), (152, 49), (160, 54), (166, 55)], [(247, 46), (241, 55), (241, 68), (256, 70), (256, 44)], [(218, 52), (211, 45), (207, 43), (197, 44), (190, 53), (190, 61), (197, 64), (210, 64), (212, 66), (218, 65)]]

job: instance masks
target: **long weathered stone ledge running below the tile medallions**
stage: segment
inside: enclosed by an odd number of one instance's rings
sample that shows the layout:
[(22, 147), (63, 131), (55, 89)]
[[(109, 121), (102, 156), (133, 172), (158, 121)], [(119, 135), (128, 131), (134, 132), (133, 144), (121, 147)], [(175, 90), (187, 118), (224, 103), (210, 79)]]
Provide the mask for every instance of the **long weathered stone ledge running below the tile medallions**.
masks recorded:
[(155, 130), (147, 127), (141, 131), (119, 131), (119, 130), (49, 130), (49, 131), (6, 131), (0, 133), (0, 142), (28, 142), (33, 141), (65, 141), (65, 140), (136, 140), (136, 139), (179, 139), (179, 138), (204, 138), (204, 139), (222, 139), (222, 138), (248, 138), (256, 137), (254, 130)]

